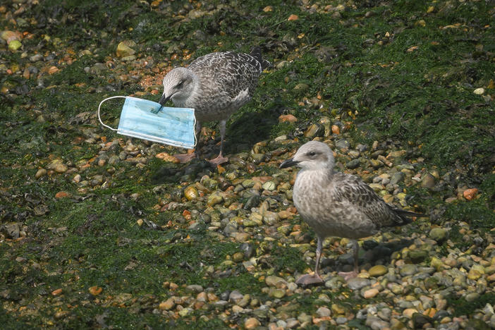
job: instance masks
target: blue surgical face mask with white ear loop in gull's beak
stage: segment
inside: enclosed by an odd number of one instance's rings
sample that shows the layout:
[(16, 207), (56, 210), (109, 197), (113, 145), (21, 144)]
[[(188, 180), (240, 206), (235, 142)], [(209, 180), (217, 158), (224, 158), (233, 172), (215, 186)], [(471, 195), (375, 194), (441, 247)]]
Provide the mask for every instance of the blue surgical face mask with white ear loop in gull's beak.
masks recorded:
[(123, 97), (118, 128), (111, 128), (102, 122), (99, 109), (102, 103), (115, 96), (104, 99), (98, 106), (98, 119), (106, 128), (116, 130), (118, 134), (132, 136), (153, 142), (193, 149), (196, 145), (194, 109), (169, 108), (147, 99)]

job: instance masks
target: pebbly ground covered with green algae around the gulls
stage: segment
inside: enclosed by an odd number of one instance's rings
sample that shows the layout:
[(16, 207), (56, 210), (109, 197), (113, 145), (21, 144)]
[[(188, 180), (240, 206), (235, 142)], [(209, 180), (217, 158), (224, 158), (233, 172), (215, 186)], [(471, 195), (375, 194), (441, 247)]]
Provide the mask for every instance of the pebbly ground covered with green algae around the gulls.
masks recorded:
[[(494, 25), (494, 1), (2, 1), (1, 329), (494, 329)], [(102, 99), (256, 45), (228, 164), (99, 125)], [(350, 283), (329, 238), (298, 288), (315, 237), (278, 166), (313, 139), (429, 217), (363, 240)]]

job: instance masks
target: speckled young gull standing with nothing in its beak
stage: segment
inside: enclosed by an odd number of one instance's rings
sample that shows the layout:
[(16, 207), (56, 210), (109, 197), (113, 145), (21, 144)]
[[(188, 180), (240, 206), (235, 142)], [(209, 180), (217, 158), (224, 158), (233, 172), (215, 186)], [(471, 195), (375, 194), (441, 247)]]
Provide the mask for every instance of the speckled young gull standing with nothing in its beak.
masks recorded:
[(346, 279), (357, 276), (358, 238), (372, 236), (380, 228), (403, 226), (411, 222), (406, 216), (424, 216), (398, 209), (382, 200), (361, 178), (334, 171), (334, 154), (323, 142), (302, 145), (293, 158), (280, 168), (299, 166), (295, 178), (293, 200), (302, 219), (317, 234), (314, 274), (301, 276), (296, 283), (322, 283), (318, 274), (322, 243), (327, 236), (350, 238), (353, 241), (354, 270), (343, 273)]

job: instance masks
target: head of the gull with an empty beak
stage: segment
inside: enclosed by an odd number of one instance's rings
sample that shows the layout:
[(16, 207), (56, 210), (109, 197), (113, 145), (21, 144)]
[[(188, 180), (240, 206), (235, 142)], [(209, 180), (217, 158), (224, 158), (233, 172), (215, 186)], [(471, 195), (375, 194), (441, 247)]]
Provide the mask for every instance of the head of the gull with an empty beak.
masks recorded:
[(290, 166), (298, 166), (305, 170), (333, 170), (335, 166), (334, 152), (323, 142), (310, 141), (302, 145), (294, 157), (286, 159), (280, 164), (281, 169)]

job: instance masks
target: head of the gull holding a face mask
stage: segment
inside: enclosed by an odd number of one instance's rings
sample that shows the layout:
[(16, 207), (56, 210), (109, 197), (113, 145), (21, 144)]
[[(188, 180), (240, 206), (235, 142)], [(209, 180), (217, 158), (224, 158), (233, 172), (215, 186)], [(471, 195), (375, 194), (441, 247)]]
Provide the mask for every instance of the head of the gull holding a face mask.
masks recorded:
[(188, 68), (174, 68), (164, 78), (164, 94), (161, 95), (159, 104), (163, 106), (171, 99), (173, 104), (181, 106), (193, 94), (194, 88), (193, 71)]

